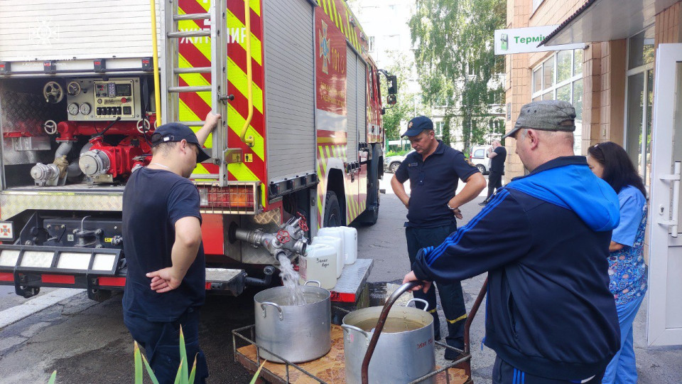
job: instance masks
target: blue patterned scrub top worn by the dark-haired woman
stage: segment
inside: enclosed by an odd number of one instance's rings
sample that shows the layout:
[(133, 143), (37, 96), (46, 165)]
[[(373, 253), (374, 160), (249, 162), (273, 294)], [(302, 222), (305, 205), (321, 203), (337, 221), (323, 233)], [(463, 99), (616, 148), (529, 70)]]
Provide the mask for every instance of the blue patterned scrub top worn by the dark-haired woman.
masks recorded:
[(634, 186), (618, 193), (620, 223), (611, 240), (624, 245), (609, 256), (609, 289), (617, 305), (627, 304), (646, 292), (644, 264), (644, 230), (646, 230), (646, 198)]

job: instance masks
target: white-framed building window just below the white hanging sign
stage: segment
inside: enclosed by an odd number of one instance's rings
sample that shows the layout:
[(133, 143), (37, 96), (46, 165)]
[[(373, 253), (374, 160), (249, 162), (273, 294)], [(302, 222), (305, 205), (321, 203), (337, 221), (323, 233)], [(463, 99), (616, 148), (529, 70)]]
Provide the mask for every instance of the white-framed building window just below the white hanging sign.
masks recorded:
[[(541, 1), (540, 1), (541, 2)], [(533, 101), (563, 100), (575, 107), (575, 154), (582, 153), (583, 50), (559, 50), (533, 70)]]

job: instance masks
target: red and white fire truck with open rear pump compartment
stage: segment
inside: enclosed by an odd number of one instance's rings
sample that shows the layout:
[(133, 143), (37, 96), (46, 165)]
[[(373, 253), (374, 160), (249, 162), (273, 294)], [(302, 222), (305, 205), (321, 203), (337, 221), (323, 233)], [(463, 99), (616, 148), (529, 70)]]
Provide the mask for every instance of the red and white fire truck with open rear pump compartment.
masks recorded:
[(0, 284), (23, 297), (123, 289), (126, 180), (155, 127), (209, 112), (190, 177), (207, 289), (269, 284), (319, 228), (377, 221), (380, 81), (389, 105), (397, 84), (345, 1), (149, 3), (0, 1)]

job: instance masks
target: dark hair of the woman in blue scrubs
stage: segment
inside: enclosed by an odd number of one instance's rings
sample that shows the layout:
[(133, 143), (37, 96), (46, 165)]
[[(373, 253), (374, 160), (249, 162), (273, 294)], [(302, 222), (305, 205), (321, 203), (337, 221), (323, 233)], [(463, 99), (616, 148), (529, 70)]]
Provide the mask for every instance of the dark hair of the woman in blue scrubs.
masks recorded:
[(602, 178), (609, 183), (616, 193), (626, 186), (634, 186), (639, 189), (646, 198), (646, 189), (637, 169), (622, 146), (614, 142), (599, 143), (590, 146), (588, 154), (604, 167)]

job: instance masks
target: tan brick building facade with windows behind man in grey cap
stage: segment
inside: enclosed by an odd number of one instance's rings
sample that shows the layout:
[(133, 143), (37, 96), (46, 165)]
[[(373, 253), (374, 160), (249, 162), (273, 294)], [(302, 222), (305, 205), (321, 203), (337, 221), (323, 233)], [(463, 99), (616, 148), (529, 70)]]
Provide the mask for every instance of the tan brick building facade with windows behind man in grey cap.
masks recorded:
[[(595, 4), (599, 3), (599, 4)], [(585, 43), (584, 49), (507, 55), (506, 129), (514, 127), (521, 106), (532, 100), (565, 100), (576, 110), (575, 153), (612, 141), (624, 146), (646, 185), (651, 183), (651, 131), (654, 63), (660, 43), (682, 41), (680, 3), (644, 0), (508, 0), (507, 28), (561, 25), (547, 46)], [(632, 13), (617, 23), (600, 12)], [(588, 23), (592, 19), (596, 21)], [(591, 24), (591, 25), (588, 25)], [(597, 39), (593, 41), (592, 39)], [(507, 170), (524, 174), (507, 141)]]

